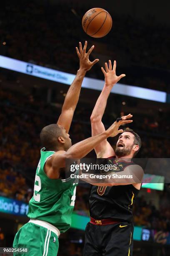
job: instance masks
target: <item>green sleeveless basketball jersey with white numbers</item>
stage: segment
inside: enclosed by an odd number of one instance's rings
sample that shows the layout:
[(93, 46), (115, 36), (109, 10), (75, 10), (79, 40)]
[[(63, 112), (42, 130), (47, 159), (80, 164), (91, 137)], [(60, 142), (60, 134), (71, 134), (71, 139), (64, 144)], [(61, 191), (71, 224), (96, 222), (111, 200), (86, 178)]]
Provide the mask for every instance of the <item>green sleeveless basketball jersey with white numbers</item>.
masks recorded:
[(75, 204), (77, 181), (50, 179), (44, 172), (47, 159), (54, 151), (41, 149), (34, 184), (34, 195), (29, 202), (28, 217), (44, 220), (64, 233), (71, 225), (71, 215)]

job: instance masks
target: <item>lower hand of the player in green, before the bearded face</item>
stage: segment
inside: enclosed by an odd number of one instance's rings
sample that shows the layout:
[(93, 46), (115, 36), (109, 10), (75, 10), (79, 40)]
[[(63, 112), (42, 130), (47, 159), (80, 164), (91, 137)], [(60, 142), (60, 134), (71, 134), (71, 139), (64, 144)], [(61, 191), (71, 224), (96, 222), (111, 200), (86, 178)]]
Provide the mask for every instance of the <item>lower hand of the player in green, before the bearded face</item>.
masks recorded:
[(117, 120), (107, 129), (107, 132), (109, 133), (109, 137), (115, 137), (118, 133), (123, 133), (123, 130), (119, 130), (120, 125), (124, 125), (126, 123), (132, 123), (133, 120), (128, 120), (129, 118), (132, 118), (133, 115), (125, 115), (122, 116), (122, 118), (117, 118)]

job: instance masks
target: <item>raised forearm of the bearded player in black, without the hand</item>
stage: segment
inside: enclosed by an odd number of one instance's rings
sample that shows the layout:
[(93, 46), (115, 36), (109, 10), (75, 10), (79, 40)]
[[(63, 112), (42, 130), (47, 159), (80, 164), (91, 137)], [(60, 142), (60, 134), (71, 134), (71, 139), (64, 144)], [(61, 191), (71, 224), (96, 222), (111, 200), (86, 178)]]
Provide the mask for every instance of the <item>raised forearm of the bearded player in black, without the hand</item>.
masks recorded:
[(100, 93), (100, 96), (98, 97), (98, 100), (95, 104), (95, 108), (92, 111), (91, 120), (101, 120), (102, 116), (105, 112), (107, 99), (110, 95), (110, 91), (112, 90), (112, 87), (106, 87), (106, 85), (103, 87), (102, 92)]

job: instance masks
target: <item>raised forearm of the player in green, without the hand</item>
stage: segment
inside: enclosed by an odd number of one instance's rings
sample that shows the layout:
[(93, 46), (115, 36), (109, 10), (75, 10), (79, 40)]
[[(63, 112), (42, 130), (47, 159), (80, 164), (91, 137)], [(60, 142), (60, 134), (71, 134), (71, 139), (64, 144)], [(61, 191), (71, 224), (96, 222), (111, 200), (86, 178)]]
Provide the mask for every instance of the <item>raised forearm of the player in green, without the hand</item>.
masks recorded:
[(72, 109), (73, 111), (75, 110), (79, 96), (80, 96), (81, 85), (85, 77), (85, 74), (86, 74), (86, 71), (84, 69), (79, 69), (77, 71), (76, 77), (72, 82), (72, 84), (70, 85), (70, 88), (65, 97), (65, 101), (62, 106), (62, 111), (69, 110), (69, 109)]

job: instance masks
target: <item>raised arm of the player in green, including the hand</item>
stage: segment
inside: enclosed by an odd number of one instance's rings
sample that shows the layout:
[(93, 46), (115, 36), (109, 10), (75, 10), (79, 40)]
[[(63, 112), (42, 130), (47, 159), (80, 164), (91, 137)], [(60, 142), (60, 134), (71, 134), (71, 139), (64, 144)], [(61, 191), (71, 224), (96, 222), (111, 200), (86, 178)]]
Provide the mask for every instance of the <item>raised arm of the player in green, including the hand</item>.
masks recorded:
[(62, 106), (61, 115), (57, 121), (57, 124), (62, 125), (62, 127), (65, 128), (67, 133), (70, 129), (70, 125), (71, 125), (74, 111), (80, 96), (81, 85), (85, 77), (85, 74), (88, 70), (91, 69), (91, 67), (95, 63), (97, 63), (97, 61), (99, 61), (99, 59), (95, 59), (92, 62), (89, 60), (89, 55), (94, 49), (94, 46), (92, 46), (87, 53), (86, 53), (87, 41), (85, 41), (85, 45), (83, 49), (82, 49), (81, 43), (79, 43), (79, 46), (80, 46), (80, 49), (78, 50), (78, 48), (76, 47), (76, 51), (80, 60), (80, 69), (77, 71), (76, 77), (72, 82), (72, 84), (70, 85), (70, 88), (65, 97), (64, 104)]

